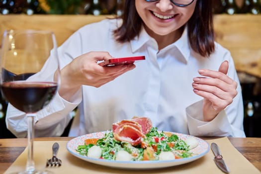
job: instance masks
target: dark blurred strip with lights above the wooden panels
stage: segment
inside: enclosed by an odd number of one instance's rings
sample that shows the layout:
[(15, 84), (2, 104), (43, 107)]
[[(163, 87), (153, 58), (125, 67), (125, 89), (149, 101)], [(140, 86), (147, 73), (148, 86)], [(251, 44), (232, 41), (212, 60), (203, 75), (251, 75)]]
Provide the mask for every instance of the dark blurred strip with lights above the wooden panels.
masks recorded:
[[(261, 12), (261, 0), (213, 0), (216, 14)], [(124, 0), (0, 0), (0, 13), (32, 14), (117, 14)]]

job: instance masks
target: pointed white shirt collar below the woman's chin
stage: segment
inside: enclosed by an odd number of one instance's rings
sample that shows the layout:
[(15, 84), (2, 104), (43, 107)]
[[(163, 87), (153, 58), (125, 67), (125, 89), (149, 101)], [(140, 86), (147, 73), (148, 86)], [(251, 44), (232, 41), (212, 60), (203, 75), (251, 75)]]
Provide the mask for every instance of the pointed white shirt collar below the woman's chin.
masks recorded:
[[(145, 45), (148, 41), (156, 42), (155, 39), (153, 39), (146, 32), (145, 28), (142, 26), (139, 36), (136, 36), (130, 42), (132, 52), (133, 53), (136, 52), (143, 45)], [(184, 28), (184, 31), (183, 31), (181, 37), (176, 42), (163, 48), (162, 51), (167, 51), (169, 49), (173, 49), (173, 47), (176, 47), (178, 49), (182, 58), (187, 62), (189, 59), (190, 51), (191, 51), (189, 41), (188, 41), (188, 36), (187, 36), (187, 27)]]

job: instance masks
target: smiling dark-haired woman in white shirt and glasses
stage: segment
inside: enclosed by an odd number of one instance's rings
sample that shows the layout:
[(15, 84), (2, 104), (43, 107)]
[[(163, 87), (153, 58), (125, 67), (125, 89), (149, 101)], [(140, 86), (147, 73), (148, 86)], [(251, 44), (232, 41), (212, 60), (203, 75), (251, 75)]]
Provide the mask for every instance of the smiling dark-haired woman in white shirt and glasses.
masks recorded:
[[(214, 43), (211, 10), (211, 0), (126, 0), (121, 17), (79, 29), (58, 49), (62, 85), (38, 113), (36, 136), (60, 136), (79, 106), (69, 136), (138, 115), (159, 130), (245, 137), (239, 80), (229, 51)], [(97, 64), (112, 56), (146, 60)], [(24, 113), (9, 105), (6, 121), (26, 136)]]

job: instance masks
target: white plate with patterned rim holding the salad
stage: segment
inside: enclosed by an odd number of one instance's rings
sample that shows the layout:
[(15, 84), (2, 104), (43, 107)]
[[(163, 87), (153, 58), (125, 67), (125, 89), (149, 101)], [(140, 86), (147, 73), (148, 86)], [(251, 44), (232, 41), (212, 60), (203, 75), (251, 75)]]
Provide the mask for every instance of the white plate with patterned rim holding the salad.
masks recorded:
[[(194, 153), (195, 155), (189, 158), (183, 158), (183, 159), (175, 159), (175, 160), (168, 160), (168, 161), (131, 161), (131, 162), (123, 162), (123, 161), (114, 161), (114, 160), (104, 160), (104, 159), (93, 159), (93, 158), (88, 158), (87, 156), (80, 155), (76, 149), (79, 145), (84, 145), (84, 142), (86, 139), (89, 138), (102, 138), (106, 132), (95, 132), (91, 134), (86, 134), (82, 135), (79, 137), (76, 137), (72, 140), (70, 140), (66, 147), (67, 150), (74, 156), (85, 160), (90, 163), (94, 163), (97, 165), (102, 165), (102, 166), (107, 166), (111, 168), (120, 168), (120, 169), (157, 169), (157, 168), (166, 168), (166, 167), (171, 167), (171, 166), (177, 166), (185, 163), (192, 162), (194, 160), (197, 160), (204, 155), (206, 155), (209, 151), (209, 145), (206, 141), (194, 137), (198, 140), (198, 146), (190, 152)], [(185, 135), (185, 134), (179, 134), (179, 133), (174, 133), (176, 134), (179, 138), (182, 140), (187, 139), (188, 137), (193, 137), (190, 135)]]

